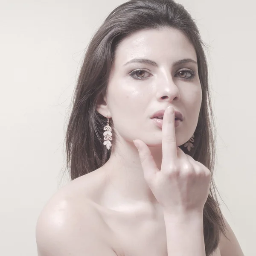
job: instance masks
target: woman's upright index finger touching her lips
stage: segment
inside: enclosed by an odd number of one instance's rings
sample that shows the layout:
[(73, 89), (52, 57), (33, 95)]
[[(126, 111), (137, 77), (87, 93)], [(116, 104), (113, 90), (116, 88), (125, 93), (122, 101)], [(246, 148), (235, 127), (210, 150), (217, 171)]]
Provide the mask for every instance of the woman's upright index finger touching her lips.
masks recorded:
[(177, 159), (177, 143), (175, 136), (175, 112), (173, 107), (166, 108), (163, 114), (162, 127), (162, 153), (163, 163)]

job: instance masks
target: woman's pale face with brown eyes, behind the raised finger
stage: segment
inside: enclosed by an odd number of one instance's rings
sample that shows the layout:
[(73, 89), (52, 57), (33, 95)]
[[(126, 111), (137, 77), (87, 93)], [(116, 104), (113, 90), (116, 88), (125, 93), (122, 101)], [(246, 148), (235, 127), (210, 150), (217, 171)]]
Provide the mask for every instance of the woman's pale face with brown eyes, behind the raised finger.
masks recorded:
[(171, 105), (183, 115), (183, 122), (175, 128), (177, 146), (186, 143), (197, 126), (202, 101), (197, 64), (174, 65), (183, 59), (197, 62), (186, 36), (173, 28), (140, 30), (119, 44), (115, 56), (105, 116), (113, 119), (118, 136), (130, 142), (140, 139), (148, 146), (160, 145), (162, 130), (151, 116)]

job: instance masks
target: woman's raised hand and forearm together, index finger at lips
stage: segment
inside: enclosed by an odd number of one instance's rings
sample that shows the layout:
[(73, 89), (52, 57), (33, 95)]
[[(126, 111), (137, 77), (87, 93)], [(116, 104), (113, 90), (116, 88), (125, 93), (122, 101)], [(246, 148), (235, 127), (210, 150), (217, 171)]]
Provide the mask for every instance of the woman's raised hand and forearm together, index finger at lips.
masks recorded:
[(203, 208), (211, 172), (176, 145), (174, 108), (163, 116), (163, 159), (157, 168), (148, 146), (138, 145), (145, 180), (163, 208), (168, 256), (205, 256)]

